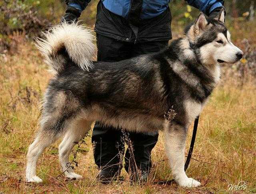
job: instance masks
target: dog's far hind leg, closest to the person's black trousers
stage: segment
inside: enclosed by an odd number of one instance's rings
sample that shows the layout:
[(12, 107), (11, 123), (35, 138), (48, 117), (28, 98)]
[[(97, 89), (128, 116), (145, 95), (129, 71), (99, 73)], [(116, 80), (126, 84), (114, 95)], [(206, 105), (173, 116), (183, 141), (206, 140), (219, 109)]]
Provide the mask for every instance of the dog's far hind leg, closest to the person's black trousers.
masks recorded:
[(90, 130), (92, 122), (84, 119), (78, 119), (68, 129), (64, 139), (59, 145), (59, 159), (62, 166), (62, 170), (66, 177), (71, 179), (81, 179), (82, 176), (76, 174), (71, 168), (69, 162), (69, 155), (74, 145), (76, 145), (79, 139), (84, 138), (87, 132)]

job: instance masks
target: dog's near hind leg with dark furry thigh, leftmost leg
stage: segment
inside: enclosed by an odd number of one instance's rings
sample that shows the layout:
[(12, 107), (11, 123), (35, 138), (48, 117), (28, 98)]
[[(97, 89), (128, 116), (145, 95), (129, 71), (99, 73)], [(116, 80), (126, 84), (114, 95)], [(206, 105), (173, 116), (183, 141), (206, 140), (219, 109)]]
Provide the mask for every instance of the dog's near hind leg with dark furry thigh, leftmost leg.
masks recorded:
[(54, 143), (66, 133), (67, 129), (78, 119), (81, 113), (78, 100), (71, 92), (53, 91), (48, 88), (46, 92), (40, 130), (35, 141), (29, 146), (26, 165), (26, 181), (42, 182), (36, 176), (36, 162), (44, 149)]

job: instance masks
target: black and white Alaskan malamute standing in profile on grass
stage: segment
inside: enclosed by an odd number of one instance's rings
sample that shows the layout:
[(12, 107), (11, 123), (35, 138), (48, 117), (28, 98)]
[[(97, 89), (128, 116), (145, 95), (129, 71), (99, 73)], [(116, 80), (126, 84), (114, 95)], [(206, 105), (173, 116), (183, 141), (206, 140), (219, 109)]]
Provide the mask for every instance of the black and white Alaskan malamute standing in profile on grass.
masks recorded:
[[(40, 130), (28, 149), (27, 182), (42, 182), (36, 176), (38, 157), (62, 136), (64, 174), (82, 178), (67, 169), (69, 155), (97, 120), (139, 133), (163, 130), (174, 180), (180, 186), (200, 186), (184, 171), (188, 127), (216, 87), (220, 63), (236, 63), (243, 55), (230, 40), (224, 11), (214, 20), (200, 13), (168, 49), (114, 63), (92, 61), (94, 36), (77, 24), (60, 24), (45, 37), (38, 48), (54, 77), (44, 95)], [(175, 112), (171, 120), (166, 119), (170, 109)]]

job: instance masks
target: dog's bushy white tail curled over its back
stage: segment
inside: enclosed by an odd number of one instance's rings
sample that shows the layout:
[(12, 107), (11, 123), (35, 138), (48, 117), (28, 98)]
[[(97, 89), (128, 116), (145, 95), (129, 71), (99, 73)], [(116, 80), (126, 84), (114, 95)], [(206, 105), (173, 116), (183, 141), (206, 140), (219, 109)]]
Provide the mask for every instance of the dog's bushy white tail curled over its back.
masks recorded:
[[(36, 47), (44, 55), (45, 62), (54, 73), (64, 69), (66, 59), (71, 59), (82, 70), (92, 68), (96, 46), (92, 30), (73, 22), (58, 24), (47, 32), (44, 39), (36, 39)], [(68, 57), (68, 58), (67, 58)]]

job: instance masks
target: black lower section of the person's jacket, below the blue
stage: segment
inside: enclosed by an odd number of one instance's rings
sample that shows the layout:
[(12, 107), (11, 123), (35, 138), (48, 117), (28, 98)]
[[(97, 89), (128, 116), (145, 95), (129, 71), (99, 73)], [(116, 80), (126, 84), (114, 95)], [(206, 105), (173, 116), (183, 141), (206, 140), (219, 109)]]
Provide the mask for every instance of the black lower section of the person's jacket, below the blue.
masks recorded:
[(108, 11), (100, 1), (97, 6), (96, 33), (126, 42), (170, 40), (172, 17), (168, 8), (159, 16), (148, 20), (132, 21)]

